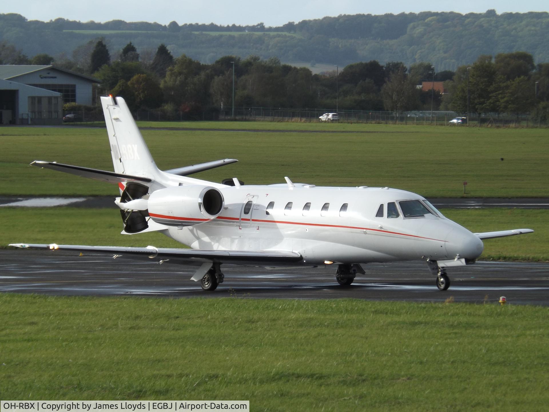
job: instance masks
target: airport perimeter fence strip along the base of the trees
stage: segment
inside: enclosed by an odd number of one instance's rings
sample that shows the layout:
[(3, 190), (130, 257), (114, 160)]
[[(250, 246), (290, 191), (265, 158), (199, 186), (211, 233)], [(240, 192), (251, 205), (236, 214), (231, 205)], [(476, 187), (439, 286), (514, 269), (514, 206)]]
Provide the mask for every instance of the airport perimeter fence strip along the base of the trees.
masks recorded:
[[(193, 112), (174, 112), (162, 109), (137, 110), (133, 113), (136, 120), (142, 121), (188, 121), (188, 120), (244, 120), (244, 121), (291, 121), (301, 123), (323, 123), (320, 119), (325, 113), (335, 113), (333, 109), (286, 109), (265, 107), (235, 107), (232, 108), (208, 107)], [(450, 123), (458, 116), (467, 116), (455, 112), (411, 111), (411, 112), (380, 112), (378, 110), (338, 110), (341, 123), (372, 123), (372, 124), (401, 124), (401, 125), (446, 125), (463, 126), (467, 122)], [(67, 116), (71, 115), (71, 116)], [(102, 110), (79, 110), (63, 114), (63, 123), (103, 122)], [(481, 127), (546, 127), (549, 113), (542, 115), (508, 115), (486, 114), (469, 115), (469, 126)]]

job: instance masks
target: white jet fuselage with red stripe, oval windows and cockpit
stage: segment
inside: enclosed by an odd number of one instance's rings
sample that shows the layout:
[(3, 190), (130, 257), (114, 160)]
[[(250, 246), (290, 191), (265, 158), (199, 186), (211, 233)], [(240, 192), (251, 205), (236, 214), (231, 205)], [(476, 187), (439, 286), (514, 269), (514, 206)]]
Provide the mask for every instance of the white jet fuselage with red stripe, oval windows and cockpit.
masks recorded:
[[(305, 265), (474, 260), (483, 250), (477, 236), (412, 192), (300, 184), (220, 191), (225, 208), (216, 219), (177, 226), (177, 218), (185, 216), (172, 215), (173, 226), (166, 235), (194, 249), (293, 250), (302, 255)], [(402, 208), (412, 201), (428, 213), (406, 217)]]

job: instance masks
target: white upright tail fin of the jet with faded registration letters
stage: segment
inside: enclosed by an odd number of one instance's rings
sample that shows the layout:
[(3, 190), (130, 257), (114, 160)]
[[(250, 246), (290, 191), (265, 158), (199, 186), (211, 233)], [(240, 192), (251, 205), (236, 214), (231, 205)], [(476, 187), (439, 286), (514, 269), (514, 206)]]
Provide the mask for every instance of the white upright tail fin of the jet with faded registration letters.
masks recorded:
[(101, 97), (114, 171), (155, 179), (161, 174), (121, 97)]

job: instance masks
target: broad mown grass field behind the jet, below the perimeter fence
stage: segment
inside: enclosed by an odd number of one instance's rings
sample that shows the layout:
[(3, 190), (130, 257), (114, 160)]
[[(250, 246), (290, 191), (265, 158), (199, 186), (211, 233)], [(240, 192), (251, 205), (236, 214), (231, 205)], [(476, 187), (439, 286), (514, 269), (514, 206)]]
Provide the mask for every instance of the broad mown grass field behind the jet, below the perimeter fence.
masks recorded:
[[(280, 131), (143, 130), (143, 136), (162, 169), (227, 157), (240, 160), (194, 175), (212, 181), (236, 176), (247, 184), (266, 184), (290, 176), (317, 186), (389, 186), (428, 197), (460, 197), (467, 181), (471, 197), (548, 196), (545, 129), (248, 124)], [(184, 125), (243, 128), (233, 122)], [(116, 187), (106, 183), (27, 166), (32, 160), (51, 160), (112, 170), (106, 135), (105, 129), (3, 129), (0, 193), (115, 194)]]

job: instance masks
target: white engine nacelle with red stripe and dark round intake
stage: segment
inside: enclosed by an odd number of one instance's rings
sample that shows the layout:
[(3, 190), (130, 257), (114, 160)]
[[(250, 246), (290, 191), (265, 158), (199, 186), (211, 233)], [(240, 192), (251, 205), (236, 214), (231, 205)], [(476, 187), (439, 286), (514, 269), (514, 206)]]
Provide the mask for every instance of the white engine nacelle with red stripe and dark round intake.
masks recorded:
[(210, 186), (166, 187), (150, 194), (149, 216), (169, 226), (191, 226), (217, 218), (223, 210), (223, 195)]

